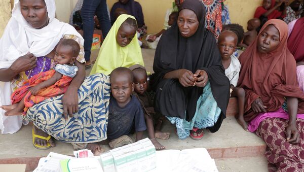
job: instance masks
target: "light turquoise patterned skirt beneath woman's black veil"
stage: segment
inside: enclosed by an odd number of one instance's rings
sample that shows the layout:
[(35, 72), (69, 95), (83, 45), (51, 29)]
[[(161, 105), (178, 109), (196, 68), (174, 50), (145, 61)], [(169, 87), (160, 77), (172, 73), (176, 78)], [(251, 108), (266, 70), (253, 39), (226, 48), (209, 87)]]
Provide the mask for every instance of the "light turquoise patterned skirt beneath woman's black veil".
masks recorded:
[(190, 130), (193, 127), (199, 129), (214, 126), (220, 115), (220, 108), (217, 106), (211, 92), (211, 86), (208, 82), (204, 88), (203, 94), (197, 101), (197, 109), (191, 121), (180, 119), (178, 117), (167, 117), (172, 124), (177, 128), (179, 139), (186, 139), (190, 135)]

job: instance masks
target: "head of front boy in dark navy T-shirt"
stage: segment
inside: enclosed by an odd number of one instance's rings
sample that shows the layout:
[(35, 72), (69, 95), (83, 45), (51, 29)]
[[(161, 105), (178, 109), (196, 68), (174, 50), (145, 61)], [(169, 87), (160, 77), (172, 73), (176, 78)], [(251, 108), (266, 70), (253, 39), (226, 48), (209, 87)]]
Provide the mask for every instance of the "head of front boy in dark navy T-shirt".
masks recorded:
[(115, 75), (111, 77), (111, 93), (118, 104), (125, 105), (131, 99), (134, 91), (134, 83), (131, 83), (128, 74)]

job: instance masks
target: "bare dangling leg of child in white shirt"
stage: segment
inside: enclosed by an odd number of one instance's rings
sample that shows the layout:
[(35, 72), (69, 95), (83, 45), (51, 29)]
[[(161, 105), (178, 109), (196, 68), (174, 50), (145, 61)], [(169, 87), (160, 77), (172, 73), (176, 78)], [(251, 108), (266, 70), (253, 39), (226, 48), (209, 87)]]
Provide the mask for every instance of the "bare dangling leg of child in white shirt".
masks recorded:
[(245, 91), (243, 88), (235, 87), (231, 93), (231, 96), (238, 98), (239, 104), (239, 114), (237, 117), (238, 123), (244, 128), (244, 130), (248, 130), (248, 124), (244, 120), (244, 106), (245, 106)]

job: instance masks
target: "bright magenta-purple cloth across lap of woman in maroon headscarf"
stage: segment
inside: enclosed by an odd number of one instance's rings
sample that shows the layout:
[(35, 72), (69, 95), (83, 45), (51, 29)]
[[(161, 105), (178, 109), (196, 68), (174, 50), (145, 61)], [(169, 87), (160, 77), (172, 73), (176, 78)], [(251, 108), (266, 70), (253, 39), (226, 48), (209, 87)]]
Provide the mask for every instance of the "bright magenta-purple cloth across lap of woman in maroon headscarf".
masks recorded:
[[(266, 118), (282, 118), (289, 119), (289, 115), (287, 112), (280, 108), (275, 112), (267, 112), (258, 114), (253, 120), (248, 123), (248, 130), (250, 132), (254, 132), (257, 130), (259, 124)], [(297, 114), (297, 118), (304, 119), (304, 114)]]

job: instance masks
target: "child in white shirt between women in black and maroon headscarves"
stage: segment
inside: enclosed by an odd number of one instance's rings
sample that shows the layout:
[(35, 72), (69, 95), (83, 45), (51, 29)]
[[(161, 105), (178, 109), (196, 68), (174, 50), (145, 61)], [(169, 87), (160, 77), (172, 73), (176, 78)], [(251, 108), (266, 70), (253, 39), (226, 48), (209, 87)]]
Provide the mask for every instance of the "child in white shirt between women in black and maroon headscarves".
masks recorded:
[(225, 75), (230, 81), (231, 96), (238, 98), (239, 114), (238, 123), (248, 131), (247, 124), (244, 120), (245, 91), (243, 88), (236, 87), (239, 80), (241, 63), (233, 55), (237, 46), (238, 36), (232, 31), (222, 31), (218, 37), (218, 49), (221, 54), (222, 64), (225, 68)]

